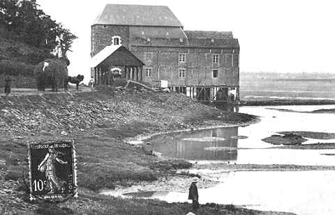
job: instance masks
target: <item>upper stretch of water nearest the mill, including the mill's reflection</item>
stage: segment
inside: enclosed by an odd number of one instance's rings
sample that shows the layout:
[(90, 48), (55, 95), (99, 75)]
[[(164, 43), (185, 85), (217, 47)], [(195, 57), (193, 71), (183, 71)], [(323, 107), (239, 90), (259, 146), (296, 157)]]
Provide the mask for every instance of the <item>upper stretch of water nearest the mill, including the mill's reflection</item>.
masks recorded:
[[(236, 164), (297, 164), (329, 165), (335, 164), (332, 154), (335, 150), (277, 150), (262, 141), (278, 132), (308, 131), (334, 133), (335, 114), (292, 113), (269, 109), (273, 107), (241, 107), (240, 112), (261, 117), (261, 122), (246, 127), (207, 129), (198, 132), (182, 132), (157, 136), (150, 140), (151, 150), (160, 152), (163, 157), (174, 157), (204, 163), (206, 161), (230, 161)], [(314, 111), (334, 109), (327, 106), (276, 106), (275, 109), (292, 111)], [(234, 136), (247, 136), (237, 139)], [(207, 140), (207, 141), (206, 141)], [(335, 143), (334, 139), (320, 140), (309, 138), (304, 144)], [(217, 148), (217, 150), (215, 150)]]

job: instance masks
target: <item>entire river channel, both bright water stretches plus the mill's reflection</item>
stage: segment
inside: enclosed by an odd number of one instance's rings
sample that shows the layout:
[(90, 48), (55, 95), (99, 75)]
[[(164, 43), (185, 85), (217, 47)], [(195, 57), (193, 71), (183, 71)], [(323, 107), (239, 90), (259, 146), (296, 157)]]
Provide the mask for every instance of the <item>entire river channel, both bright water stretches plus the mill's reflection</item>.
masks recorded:
[[(282, 111), (283, 109), (289, 111)], [(151, 149), (162, 157), (186, 159), (202, 164), (191, 173), (218, 181), (199, 189), (200, 203), (243, 205), (250, 209), (293, 212), (299, 215), (335, 214), (335, 171), (236, 171), (221, 170), (229, 164), (297, 164), (335, 166), (335, 150), (269, 149), (262, 141), (277, 132), (334, 133), (335, 114), (306, 113), (323, 106), (244, 106), (240, 113), (260, 116), (260, 122), (244, 127), (225, 127), (193, 132), (163, 134), (149, 139)], [(300, 112), (292, 112), (300, 111)], [(301, 111), (305, 113), (301, 113)], [(303, 144), (335, 143), (334, 139), (313, 139)], [(213, 170), (211, 166), (216, 164)], [(152, 192), (145, 198), (185, 202), (186, 192)]]

